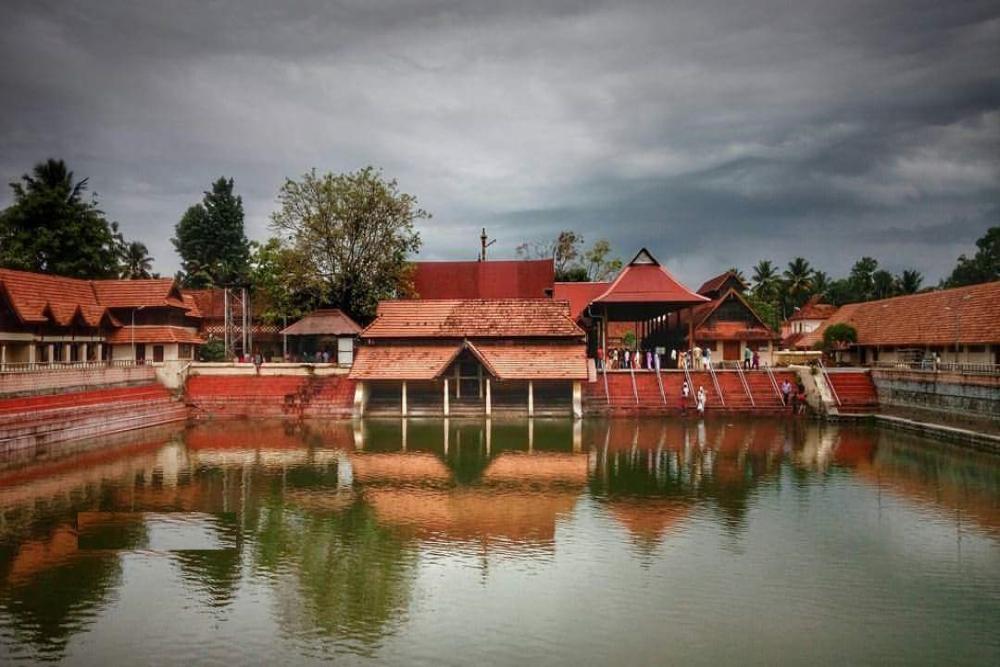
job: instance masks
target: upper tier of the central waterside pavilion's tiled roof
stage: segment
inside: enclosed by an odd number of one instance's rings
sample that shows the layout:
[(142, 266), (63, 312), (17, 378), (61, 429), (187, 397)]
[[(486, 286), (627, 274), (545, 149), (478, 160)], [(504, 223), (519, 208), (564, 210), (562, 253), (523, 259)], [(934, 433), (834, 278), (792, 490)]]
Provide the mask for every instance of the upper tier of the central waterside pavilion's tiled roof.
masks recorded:
[(362, 338), (582, 337), (569, 304), (552, 299), (383, 301)]

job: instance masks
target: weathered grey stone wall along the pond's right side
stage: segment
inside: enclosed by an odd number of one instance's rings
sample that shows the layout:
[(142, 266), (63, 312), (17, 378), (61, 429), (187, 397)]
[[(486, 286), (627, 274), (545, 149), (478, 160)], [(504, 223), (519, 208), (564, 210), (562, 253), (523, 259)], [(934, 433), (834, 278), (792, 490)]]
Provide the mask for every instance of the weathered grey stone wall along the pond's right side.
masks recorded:
[(878, 369), (872, 379), (884, 406), (1000, 419), (997, 376)]

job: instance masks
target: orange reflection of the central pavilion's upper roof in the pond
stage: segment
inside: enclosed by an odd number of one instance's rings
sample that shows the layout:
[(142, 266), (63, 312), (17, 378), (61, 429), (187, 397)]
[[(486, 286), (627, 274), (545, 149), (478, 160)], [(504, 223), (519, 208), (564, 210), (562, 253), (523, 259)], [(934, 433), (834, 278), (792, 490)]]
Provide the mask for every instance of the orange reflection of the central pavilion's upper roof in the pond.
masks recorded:
[(496, 487), (369, 488), (365, 500), (379, 521), (418, 537), (458, 541), (551, 542), (557, 519), (568, 514), (579, 492), (498, 491)]

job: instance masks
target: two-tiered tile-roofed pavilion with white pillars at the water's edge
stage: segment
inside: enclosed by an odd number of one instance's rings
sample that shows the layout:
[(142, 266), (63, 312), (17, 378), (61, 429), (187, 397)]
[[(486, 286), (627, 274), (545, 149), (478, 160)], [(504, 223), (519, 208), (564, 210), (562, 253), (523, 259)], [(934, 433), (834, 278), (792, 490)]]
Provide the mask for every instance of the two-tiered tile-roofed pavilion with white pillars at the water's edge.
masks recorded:
[(584, 340), (558, 300), (383, 301), (350, 372), (355, 414), (580, 416)]

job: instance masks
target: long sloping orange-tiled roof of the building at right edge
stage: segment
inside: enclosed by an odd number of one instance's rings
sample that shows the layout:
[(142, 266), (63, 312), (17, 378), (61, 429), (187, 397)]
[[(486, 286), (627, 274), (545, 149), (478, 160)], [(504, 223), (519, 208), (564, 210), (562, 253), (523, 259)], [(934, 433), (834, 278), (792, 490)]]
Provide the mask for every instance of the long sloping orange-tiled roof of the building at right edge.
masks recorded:
[(797, 347), (811, 348), (823, 332), (847, 323), (859, 345), (1000, 344), (1000, 281), (841, 306)]

